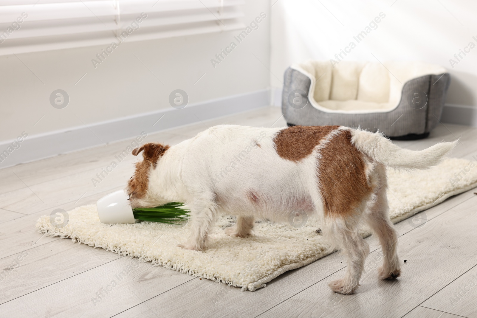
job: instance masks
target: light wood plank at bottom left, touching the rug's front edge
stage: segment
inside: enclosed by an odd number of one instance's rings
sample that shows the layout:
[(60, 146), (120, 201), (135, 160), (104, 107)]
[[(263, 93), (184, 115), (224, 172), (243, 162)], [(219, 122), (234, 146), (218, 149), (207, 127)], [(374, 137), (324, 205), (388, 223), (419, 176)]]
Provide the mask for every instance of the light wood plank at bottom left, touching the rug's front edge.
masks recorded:
[[(140, 303), (141, 299), (164, 293), (191, 279), (137, 258), (121, 257), (20, 299), (39, 317), (111, 317)], [(100, 297), (102, 288), (108, 293), (103, 292)], [(0, 305), (0, 312), (9, 308), (9, 303)]]

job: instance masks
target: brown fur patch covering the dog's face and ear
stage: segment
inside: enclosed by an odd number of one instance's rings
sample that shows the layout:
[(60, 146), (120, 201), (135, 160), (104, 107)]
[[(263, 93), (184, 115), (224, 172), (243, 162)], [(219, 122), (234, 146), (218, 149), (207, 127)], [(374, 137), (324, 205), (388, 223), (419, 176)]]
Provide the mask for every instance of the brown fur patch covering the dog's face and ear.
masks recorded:
[(157, 160), (159, 160), (169, 148), (169, 145), (163, 146), (162, 144), (149, 143), (133, 150), (132, 154), (135, 156), (144, 150), (144, 160), (136, 163), (134, 175), (129, 179), (127, 184), (126, 191), (130, 198), (140, 199), (146, 195), (151, 166), (156, 168)]

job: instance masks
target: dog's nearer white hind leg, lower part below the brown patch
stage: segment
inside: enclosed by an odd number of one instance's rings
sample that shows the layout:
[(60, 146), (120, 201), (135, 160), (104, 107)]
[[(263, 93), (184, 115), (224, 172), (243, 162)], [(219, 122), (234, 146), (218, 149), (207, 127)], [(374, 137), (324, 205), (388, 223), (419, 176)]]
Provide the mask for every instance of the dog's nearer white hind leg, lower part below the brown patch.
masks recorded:
[(359, 235), (356, 220), (336, 217), (326, 226), (324, 233), (336, 247), (341, 247), (348, 264), (345, 276), (332, 281), (328, 286), (337, 293), (353, 294), (359, 286), (369, 245)]

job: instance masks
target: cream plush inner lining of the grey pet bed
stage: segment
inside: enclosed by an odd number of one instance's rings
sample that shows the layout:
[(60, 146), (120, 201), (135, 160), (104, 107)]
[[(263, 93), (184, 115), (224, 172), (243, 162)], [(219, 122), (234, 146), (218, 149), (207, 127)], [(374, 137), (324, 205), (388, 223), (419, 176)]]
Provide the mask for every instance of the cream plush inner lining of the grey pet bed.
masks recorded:
[[(442, 66), (424, 62), (357, 62), (309, 60), (291, 68), (311, 80), (311, 105), (324, 112), (387, 112), (398, 106), (405, 82), (428, 74), (442, 74)], [(323, 75), (324, 74), (324, 75)], [(323, 75), (321, 77), (321, 75)], [(321, 79), (320, 79), (321, 77)]]

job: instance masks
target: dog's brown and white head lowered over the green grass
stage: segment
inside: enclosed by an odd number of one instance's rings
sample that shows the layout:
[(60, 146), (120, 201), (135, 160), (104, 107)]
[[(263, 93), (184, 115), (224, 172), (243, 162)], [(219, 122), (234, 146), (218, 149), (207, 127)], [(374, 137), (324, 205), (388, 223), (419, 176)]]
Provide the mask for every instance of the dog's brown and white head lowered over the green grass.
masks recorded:
[(134, 175), (126, 187), (132, 207), (155, 207), (162, 204), (160, 197), (151, 193), (149, 176), (167, 149), (169, 145), (148, 143), (133, 150), (132, 154), (135, 156), (143, 152), (144, 160), (136, 163)]

